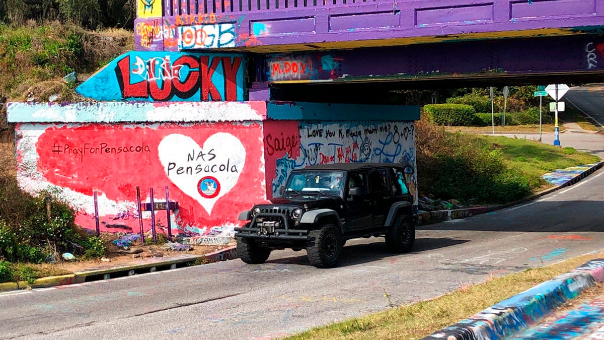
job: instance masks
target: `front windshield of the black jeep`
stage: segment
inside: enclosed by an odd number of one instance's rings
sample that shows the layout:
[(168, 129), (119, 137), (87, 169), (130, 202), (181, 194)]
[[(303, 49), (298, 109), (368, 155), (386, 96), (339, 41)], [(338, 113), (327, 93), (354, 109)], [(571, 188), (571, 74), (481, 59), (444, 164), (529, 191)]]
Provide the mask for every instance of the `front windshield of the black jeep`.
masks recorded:
[(292, 171), (285, 185), (284, 197), (339, 196), (344, 193), (344, 171)]

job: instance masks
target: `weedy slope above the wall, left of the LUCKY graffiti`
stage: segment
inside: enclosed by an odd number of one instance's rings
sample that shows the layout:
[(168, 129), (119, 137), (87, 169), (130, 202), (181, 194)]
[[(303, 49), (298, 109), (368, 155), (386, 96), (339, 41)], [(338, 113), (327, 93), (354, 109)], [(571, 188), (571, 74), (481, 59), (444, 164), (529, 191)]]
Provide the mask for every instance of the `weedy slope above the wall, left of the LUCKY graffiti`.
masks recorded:
[(133, 50), (132, 31), (112, 28), (89, 31), (59, 21), (25, 25), (0, 24), (0, 131), (11, 134), (5, 102), (83, 100), (76, 82), (63, 77), (76, 72), (79, 81), (118, 55)]

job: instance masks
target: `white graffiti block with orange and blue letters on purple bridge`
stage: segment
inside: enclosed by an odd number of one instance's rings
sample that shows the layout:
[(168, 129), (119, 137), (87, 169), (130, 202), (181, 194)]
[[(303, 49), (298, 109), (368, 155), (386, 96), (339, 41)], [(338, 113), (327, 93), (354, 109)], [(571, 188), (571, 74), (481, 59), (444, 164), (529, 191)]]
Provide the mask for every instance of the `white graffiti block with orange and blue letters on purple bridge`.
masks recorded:
[(180, 26), (178, 31), (180, 50), (235, 46), (234, 24)]

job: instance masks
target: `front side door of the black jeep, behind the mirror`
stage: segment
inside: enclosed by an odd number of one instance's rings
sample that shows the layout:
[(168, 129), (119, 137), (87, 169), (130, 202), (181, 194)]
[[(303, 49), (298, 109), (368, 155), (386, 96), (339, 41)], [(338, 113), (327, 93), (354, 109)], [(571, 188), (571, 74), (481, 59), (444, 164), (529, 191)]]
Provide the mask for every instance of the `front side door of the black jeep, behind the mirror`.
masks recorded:
[[(358, 230), (373, 227), (371, 205), (367, 186), (367, 172), (350, 172), (344, 192), (346, 229)], [(360, 188), (360, 195), (350, 195), (350, 188)]]

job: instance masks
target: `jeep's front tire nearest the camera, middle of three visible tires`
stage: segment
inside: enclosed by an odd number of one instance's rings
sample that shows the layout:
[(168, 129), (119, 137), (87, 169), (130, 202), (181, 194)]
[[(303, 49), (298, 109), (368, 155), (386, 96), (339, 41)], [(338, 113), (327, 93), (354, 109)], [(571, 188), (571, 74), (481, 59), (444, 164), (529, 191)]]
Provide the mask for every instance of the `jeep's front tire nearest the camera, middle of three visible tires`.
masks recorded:
[(315, 238), (315, 243), (306, 248), (310, 264), (317, 268), (335, 267), (344, 246), (338, 227), (332, 223), (323, 224), (321, 229), (310, 230), (309, 237)]

